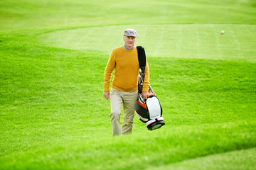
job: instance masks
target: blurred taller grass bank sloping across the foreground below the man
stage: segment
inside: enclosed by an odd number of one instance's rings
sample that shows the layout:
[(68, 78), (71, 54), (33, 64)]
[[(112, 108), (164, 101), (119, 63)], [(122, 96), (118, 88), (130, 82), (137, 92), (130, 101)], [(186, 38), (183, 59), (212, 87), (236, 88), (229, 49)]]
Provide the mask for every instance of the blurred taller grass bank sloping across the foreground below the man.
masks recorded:
[[(146, 169), (256, 146), (255, 120), (102, 137), (0, 159), (2, 169)], [(129, 142), (127, 142), (129, 141)]]

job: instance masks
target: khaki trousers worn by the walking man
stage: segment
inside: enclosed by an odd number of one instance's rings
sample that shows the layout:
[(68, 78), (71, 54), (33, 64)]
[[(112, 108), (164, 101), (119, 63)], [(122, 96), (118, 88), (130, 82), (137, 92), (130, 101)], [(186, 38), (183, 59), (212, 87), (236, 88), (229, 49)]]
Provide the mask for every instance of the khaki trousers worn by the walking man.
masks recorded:
[(120, 115), (121, 107), (124, 106), (124, 121), (122, 125), (122, 135), (132, 133), (135, 104), (138, 98), (138, 91), (124, 92), (117, 89), (111, 89), (110, 102), (111, 113), (110, 120), (112, 125), (113, 136), (121, 135)]

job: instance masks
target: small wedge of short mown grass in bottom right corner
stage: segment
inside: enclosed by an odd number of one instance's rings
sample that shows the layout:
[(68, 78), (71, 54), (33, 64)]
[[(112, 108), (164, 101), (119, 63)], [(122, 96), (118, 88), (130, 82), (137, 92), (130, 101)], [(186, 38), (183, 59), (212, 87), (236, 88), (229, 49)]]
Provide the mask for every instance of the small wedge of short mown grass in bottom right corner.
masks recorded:
[(256, 169), (256, 148), (242, 149), (224, 154), (213, 154), (197, 159), (188, 159), (166, 166), (153, 166), (146, 170), (253, 170)]

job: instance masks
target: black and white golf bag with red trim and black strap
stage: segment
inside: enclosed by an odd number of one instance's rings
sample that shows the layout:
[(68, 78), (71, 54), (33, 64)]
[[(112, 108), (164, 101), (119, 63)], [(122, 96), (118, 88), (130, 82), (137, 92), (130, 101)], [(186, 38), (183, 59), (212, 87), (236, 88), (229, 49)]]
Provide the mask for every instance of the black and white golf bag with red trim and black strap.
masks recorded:
[(138, 100), (135, 106), (135, 113), (139, 120), (146, 123), (148, 130), (155, 130), (161, 128), (164, 123), (162, 117), (162, 108), (159, 99), (154, 94), (153, 89), (149, 85), (149, 96), (146, 101), (142, 98), (142, 86), (144, 81), (144, 71), (146, 66), (146, 54), (142, 46), (137, 46), (139, 58), (139, 83), (138, 83)]

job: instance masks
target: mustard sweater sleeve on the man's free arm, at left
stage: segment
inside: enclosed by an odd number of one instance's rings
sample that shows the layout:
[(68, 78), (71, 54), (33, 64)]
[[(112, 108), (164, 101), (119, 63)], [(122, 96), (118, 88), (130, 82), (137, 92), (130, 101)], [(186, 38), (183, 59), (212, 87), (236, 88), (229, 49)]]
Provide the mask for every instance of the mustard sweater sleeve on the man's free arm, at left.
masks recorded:
[(114, 70), (114, 67), (115, 67), (114, 52), (112, 51), (104, 72), (104, 91), (110, 91), (110, 79), (111, 79), (111, 75)]

